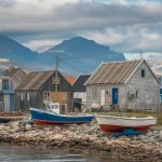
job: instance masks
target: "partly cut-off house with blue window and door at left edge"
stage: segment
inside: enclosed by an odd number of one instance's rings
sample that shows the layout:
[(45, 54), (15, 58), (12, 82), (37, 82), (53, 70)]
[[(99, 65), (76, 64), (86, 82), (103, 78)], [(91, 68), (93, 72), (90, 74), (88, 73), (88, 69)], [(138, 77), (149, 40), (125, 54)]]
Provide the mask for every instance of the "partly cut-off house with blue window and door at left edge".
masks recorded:
[(10, 67), (0, 78), (0, 111), (15, 111), (15, 89), (26, 77), (21, 68)]

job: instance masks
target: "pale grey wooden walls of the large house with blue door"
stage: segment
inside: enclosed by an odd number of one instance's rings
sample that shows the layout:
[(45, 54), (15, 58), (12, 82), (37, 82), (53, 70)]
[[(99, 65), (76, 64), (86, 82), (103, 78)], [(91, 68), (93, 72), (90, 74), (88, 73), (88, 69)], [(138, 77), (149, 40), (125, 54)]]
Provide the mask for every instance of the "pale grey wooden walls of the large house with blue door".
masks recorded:
[[(141, 69), (146, 69), (146, 78), (141, 78)], [(118, 87), (119, 108), (121, 110), (157, 110), (159, 104), (159, 82), (145, 64), (136, 69), (126, 84), (92, 84), (86, 85), (86, 106), (92, 108), (93, 104), (103, 106), (109, 110), (112, 105), (112, 87)], [(105, 105), (102, 105), (102, 90), (105, 90)], [(136, 96), (136, 90), (138, 95)], [(131, 100), (130, 95), (135, 97)]]

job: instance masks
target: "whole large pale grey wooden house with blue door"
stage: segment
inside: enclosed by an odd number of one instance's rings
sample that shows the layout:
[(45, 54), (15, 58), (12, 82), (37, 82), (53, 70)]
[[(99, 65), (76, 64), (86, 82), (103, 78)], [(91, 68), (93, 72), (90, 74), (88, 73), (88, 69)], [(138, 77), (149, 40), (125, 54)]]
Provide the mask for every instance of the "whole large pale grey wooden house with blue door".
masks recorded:
[(105, 110), (159, 108), (159, 85), (145, 59), (102, 63), (85, 82), (86, 105)]

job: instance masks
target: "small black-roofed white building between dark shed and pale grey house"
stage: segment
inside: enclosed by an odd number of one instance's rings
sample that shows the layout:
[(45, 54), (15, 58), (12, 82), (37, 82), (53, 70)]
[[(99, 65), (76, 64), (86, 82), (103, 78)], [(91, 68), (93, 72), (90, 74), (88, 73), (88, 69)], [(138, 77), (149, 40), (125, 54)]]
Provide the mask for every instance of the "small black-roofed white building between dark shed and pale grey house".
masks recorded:
[(90, 75), (81, 75), (72, 84), (73, 109), (81, 109), (86, 105), (86, 86), (84, 83), (89, 77)]

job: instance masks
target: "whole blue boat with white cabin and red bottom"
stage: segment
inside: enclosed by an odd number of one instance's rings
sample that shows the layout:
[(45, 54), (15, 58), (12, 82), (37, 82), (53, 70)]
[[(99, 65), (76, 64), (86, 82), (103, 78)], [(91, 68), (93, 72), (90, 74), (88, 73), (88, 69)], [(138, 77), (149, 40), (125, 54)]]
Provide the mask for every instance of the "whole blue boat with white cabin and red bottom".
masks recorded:
[(60, 104), (49, 103), (45, 109), (30, 108), (31, 118), (35, 124), (81, 124), (93, 120), (93, 114), (85, 116), (66, 116)]

